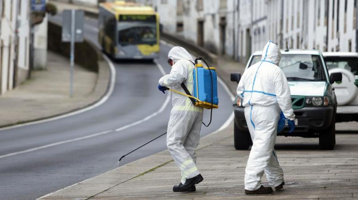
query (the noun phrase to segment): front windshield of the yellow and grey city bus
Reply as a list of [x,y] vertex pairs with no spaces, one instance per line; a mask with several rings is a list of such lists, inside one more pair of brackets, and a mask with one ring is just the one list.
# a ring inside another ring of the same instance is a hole
[[121,15],[117,27],[121,45],[157,43],[155,15]]

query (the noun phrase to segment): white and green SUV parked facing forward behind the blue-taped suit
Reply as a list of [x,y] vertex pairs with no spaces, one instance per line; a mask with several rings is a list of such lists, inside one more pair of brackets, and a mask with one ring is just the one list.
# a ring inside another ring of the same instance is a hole
[[[296,128],[288,128],[277,135],[319,137],[321,149],[333,149],[335,145],[335,114],[337,99],[332,84],[342,81],[341,73],[328,74],[322,53],[318,50],[281,50],[279,67],[285,73],[291,91],[292,107],[296,115]],[[262,52],[255,52],[246,69],[260,62]],[[239,82],[241,74],[231,74],[231,81]],[[252,145],[247,128],[244,107],[234,101],[234,145],[236,149],[248,149]]]

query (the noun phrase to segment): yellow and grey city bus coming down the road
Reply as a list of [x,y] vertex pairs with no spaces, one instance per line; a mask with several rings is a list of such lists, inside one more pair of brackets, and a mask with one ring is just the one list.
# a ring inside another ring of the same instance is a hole
[[114,59],[158,58],[159,14],[150,6],[136,3],[101,3],[98,42]]

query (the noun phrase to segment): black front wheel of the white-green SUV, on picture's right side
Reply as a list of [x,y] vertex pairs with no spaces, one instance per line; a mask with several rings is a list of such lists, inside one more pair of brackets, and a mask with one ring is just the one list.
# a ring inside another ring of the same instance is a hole
[[335,116],[333,117],[331,125],[320,132],[319,147],[321,150],[332,150],[335,145]]

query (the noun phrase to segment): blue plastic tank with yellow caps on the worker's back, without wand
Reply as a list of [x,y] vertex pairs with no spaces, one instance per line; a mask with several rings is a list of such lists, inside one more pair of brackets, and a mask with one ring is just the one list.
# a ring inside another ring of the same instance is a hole
[[[194,97],[198,98],[195,105],[207,109],[218,108],[218,84],[217,74],[213,67],[206,67],[202,64],[201,60],[195,65],[193,70],[194,75]],[[213,98],[211,95],[213,94]],[[213,102],[211,100],[213,99]],[[213,105],[212,105],[213,103]]]

